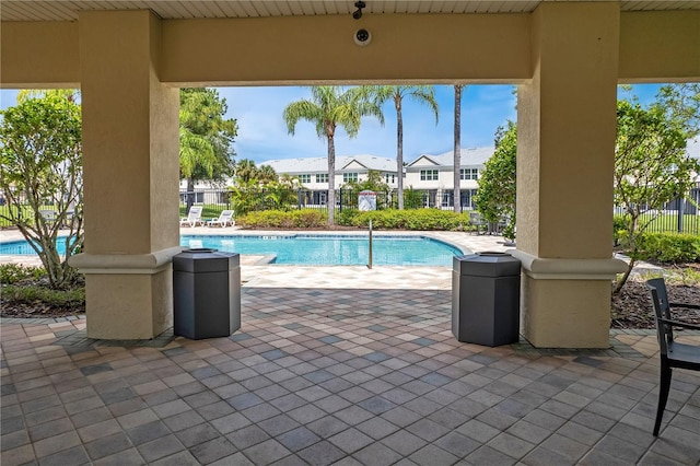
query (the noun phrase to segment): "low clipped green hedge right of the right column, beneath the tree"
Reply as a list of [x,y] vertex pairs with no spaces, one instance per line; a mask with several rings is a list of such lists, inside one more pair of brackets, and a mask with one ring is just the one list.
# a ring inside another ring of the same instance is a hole
[[700,236],[681,233],[644,233],[637,242],[635,258],[667,264],[700,261]]

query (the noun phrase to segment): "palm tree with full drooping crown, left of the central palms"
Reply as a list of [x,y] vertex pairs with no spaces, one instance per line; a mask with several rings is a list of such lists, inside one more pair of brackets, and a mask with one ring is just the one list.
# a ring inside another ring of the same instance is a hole
[[354,138],[360,131],[363,116],[375,116],[384,125],[382,109],[370,101],[368,88],[342,88],[319,85],[311,90],[312,100],[292,102],[284,108],[283,117],[290,135],[300,119],[316,125],[316,133],[328,143],[328,224],[335,224],[336,208],[336,128],[341,126],[348,137]]

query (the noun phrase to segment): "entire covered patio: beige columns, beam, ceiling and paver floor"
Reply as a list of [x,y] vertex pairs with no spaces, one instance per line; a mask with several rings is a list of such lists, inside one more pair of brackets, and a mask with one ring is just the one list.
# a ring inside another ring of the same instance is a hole
[[[82,92],[88,318],[2,322],[2,464],[698,463],[697,375],[653,438],[655,336],[609,330],[617,84],[699,81],[698,3],[254,3],[3,1],[0,85]],[[170,335],[178,89],[397,82],[518,85],[525,339],[456,341],[430,281],[341,280]]]

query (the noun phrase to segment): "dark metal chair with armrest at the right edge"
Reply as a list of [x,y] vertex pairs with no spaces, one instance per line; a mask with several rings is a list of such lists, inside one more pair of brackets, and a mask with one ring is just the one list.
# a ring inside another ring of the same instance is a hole
[[666,292],[666,283],[663,278],[655,278],[646,281],[646,288],[652,296],[654,313],[656,315],[656,337],[661,347],[661,386],[658,388],[658,406],[656,408],[656,421],[654,422],[654,436],[658,435],[668,391],[670,388],[670,377],[673,368],[700,371],[700,346],[685,345],[674,341],[673,327],[700,330],[700,325],[689,324],[674,319],[672,307],[685,307],[700,310],[698,304],[669,303]]

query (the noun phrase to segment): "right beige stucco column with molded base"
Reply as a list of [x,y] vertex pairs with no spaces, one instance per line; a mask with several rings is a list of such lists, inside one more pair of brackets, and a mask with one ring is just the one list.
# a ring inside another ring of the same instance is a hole
[[618,2],[542,2],[518,88],[522,324],[540,348],[609,345]]

